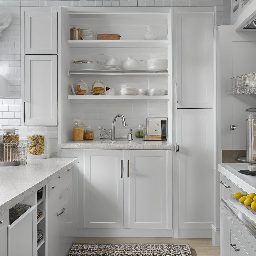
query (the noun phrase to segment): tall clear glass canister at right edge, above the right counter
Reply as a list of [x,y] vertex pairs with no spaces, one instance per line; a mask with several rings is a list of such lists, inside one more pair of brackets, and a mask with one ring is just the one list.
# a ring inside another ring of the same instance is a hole
[[246,160],[256,162],[256,108],[248,108],[246,112]]

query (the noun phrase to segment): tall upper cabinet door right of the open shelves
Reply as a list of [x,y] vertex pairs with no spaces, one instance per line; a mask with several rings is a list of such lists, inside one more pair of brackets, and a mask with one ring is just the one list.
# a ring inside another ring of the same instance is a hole
[[213,13],[177,13],[177,108],[213,107]]

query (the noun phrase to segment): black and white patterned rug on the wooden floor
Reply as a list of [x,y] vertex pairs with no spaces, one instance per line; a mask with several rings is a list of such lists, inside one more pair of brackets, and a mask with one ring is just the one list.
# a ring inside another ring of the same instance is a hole
[[68,256],[192,256],[189,245],[72,244]]

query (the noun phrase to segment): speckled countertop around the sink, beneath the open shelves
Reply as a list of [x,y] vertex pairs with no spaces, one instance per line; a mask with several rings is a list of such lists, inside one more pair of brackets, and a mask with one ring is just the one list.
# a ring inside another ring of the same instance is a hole
[[84,140],[84,141],[66,141],[58,144],[58,148],[65,149],[171,149],[172,144],[169,141],[109,141],[109,140]]

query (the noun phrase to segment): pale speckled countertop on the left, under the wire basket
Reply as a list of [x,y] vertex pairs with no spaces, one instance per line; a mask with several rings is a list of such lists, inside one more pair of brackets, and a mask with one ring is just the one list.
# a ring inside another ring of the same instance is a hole
[[28,159],[20,166],[0,167],[0,215],[77,163],[76,157]]

